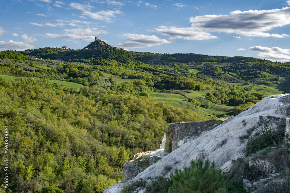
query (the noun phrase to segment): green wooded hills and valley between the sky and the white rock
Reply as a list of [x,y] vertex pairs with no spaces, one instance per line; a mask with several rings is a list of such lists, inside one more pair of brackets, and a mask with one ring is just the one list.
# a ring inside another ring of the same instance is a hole
[[236,115],[286,92],[289,70],[242,56],[127,52],[100,40],[80,50],[0,52],[6,192],[103,192],[133,155],[160,148],[170,123]]

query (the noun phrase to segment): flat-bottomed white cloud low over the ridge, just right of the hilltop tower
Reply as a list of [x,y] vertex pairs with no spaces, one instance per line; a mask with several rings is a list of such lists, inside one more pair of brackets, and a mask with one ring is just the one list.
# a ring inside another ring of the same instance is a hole
[[152,47],[155,45],[170,43],[170,41],[161,39],[157,36],[147,36],[143,34],[124,34],[123,39],[126,39],[124,43],[118,43],[113,46],[123,47],[123,48],[142,48],[142,47]]

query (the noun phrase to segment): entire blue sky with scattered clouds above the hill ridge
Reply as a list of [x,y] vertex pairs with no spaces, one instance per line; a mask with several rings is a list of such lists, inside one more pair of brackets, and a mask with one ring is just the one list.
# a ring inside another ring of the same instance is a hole
[[5,0],[0,50],[81,49],[95,36],[129,51],[290,62],[290,0]]

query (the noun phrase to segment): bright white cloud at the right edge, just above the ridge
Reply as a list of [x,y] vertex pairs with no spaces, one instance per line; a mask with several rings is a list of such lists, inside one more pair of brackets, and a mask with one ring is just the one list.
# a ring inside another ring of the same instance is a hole
[[258,52],[258,56],[263,59],[279,62],[290,62],[290,49],[282,49],[280,47],[250,47],[250,51]]

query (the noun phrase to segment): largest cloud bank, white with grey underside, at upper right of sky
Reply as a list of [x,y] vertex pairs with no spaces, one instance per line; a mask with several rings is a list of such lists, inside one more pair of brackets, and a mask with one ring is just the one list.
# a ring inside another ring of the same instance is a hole
[[[290,1],[290,0],[289,0]],[[228,15],[203,15],[190,18],[191,27],[162,27],[156,32],[168,35],[171,39],[181,37],[184,39],[204,39],[211,36],[211,32],[224,32],[240,38],[240,36],[259,36],[284,38],[287,34],[270,34],[267,31],[275,27],[283,27],[290,24],[290,8],[273,10],[249,10],[233,11]],[[194,38],[202,33],[202,38]],[[216,38],[216,37],[215,37]],[[207,38],[209,39],[209,38]]]

